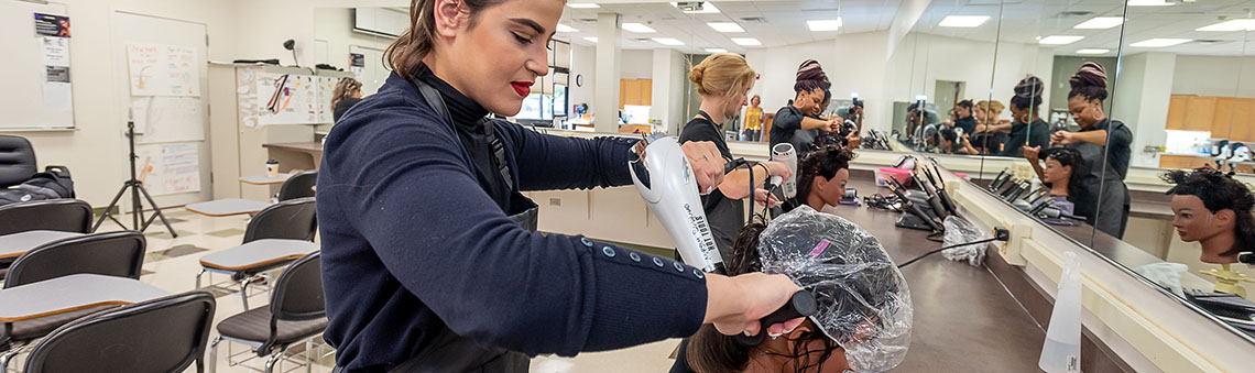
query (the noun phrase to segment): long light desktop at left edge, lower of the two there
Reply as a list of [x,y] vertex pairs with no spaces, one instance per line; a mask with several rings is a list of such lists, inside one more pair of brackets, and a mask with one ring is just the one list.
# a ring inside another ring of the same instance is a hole
[[78,274],[0,290],[0,323],[169,295],[136,279]]

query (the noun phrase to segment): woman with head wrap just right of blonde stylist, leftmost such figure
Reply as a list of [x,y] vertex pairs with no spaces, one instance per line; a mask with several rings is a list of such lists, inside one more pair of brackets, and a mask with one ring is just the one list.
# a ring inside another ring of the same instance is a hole
[[772,148],[779,143],[791,143],[801,156],[811,151],[814,137],[821,131],[840,129],[842,122],[838,119],[823,121],[811,117],[823,109],[823,92],[830,87],[832,83],[828,82],[828,75],[823,74],[818,62],[808,59],[798,67],[797,82],[793,83],[794,97],[788,105],[776,112],[776,119],[772,119]]

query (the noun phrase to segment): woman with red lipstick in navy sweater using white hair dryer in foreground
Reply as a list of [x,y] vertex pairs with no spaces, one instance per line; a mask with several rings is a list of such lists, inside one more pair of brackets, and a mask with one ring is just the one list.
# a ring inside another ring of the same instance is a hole
[[[521,191],[631,185],[639,157],[634,139],[486,118],[518,113],[548,72],[562,4],[414,0],[385,54],[393,74],[331,129],[318,216],[338,372],[527,372],[528,355],[639,345],[703,323],[753,334],[797,291],[786,276],[703,274],[535,231]],[[714,144],[684,148],[697,185],[723,180]]]

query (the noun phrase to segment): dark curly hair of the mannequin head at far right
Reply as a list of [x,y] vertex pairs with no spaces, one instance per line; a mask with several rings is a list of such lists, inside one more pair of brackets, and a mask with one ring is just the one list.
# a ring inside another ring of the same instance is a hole
[[1176,170],[1163,173],[1160,178],[1176,185],[1167,191],[1167,195],[1199,197],[1211,214],[1234,210],[1237,219],[1234,226],[1237,240],[1232,249],[1221,255],[1237,255],[1242,249],[1255,247],[1255,216],[1251,215],[1255,196],[1246,185],[1234,180],[1231,173],[1212,168]]

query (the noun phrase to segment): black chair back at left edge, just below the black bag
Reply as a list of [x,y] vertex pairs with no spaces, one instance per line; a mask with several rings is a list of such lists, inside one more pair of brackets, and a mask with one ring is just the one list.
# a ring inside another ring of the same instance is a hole
[[34,230],[90,234],[92,205],[60,198],[0,206],[0,236]]

